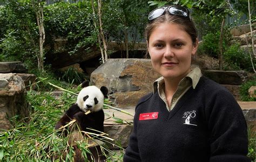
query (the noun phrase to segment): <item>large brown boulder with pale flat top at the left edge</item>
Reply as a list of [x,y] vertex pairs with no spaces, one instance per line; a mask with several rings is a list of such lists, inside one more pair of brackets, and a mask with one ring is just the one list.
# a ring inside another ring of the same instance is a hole
[[15,73],[0,73],[0,129],[11,128],[9,118],[29,115],[25,102],[25,85]]

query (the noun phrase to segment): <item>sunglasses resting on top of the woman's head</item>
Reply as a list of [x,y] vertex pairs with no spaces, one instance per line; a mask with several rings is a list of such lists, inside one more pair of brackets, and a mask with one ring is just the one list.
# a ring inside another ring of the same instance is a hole
[[154,9],[153,11],[150,12],[149,17],[147,18],[149,18],[149,20],[152,21],[153,19],[163,15],[166,9],[168,9],[171,15],[188,17],[190,18],[190,21],[191,21],[190,12],[187,10],[187,8],[184,8],[183,6],[179,6],[179,5],[173,5],[169,7],[160,7],[160,8]]

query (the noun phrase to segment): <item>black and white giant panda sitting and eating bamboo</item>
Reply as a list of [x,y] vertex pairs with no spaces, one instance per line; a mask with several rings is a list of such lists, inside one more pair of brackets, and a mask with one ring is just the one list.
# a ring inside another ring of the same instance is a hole
[[[82,83],[82,88],[83,89],[78,94],[76,103],[65,112],[55,126],[55,129],[60,129],[60,131],[64,132],[65,136],[68,134],[68,131],[61,130],[62,126],[69,124],[69,122],[71,122],[73,119],[77,121],[80,131],[97,134],[99,134],[97,131],[104,132],[103,103],[104,98],[107,98],[107,87],[102,86],[100,89],[98,89],[96,86],[89,86],[89,82],[85,81]],[[91,112],[89,114],[85,114],[85,112],[88,110]],[[72,129],[69,128],[69,130]],[[75,156],[73,157],[75,161],[85,161],[85,159],[82,157],[81,151],[74,144],[74,141],[80,140],[81,136],[84,136],[84,134],[81,134],[80,131],[78,132],[78,130],[72,130],[69,139],[69,145],[72,145],[73,150],[75,151]],[[87,161],[105,160],[105,156],[103,156],[99,145],[89,147],[89,150],[91,151],[91,154],[87,155]],[[58,158],[64,159],[65,153]]]

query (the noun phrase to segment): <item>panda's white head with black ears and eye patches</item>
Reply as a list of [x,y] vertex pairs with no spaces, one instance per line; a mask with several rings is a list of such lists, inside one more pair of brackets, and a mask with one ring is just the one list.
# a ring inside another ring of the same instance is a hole
[[82,83],[82,88],[76,102],[79,108],[83,112],[87,110],[92,112],[102,110],[104,98],[107,98],[107,88],[102,86],[98,89],[96,86],[89,86],[88,81]]

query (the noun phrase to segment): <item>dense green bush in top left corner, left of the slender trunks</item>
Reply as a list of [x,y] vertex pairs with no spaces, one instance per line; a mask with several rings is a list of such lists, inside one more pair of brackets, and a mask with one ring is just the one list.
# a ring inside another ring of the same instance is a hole
[[0,23],[5,25],[0,27],[0,52],[4,61],[19,60],[34,68],[39,34],[33,2],[9,0],[1,6]]

